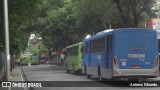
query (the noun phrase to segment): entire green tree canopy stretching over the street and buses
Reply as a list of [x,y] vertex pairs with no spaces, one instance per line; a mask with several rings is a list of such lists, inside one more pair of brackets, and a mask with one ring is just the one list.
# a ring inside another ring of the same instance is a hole
[[[30,33],[41,35],[49,50],[59,50],[110,27],[144,27],[158,7],[156,0],[9,0],[11,51],[24,51]],[[3,14],[0,21],[2,51]]]

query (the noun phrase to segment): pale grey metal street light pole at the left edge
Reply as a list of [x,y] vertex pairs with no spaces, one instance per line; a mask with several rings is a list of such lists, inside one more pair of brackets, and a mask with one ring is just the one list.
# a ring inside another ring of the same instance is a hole
[[5,50],[6,50],[6,79],[10,81],[10,49],[9,49],[9,22],[8,22],[8,0],[3,0],[4,6],[4,28],[5,28]]

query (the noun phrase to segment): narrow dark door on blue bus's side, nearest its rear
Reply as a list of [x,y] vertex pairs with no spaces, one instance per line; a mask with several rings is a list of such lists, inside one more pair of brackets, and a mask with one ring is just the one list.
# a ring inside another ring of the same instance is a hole
[[111,68],[112,67],[112,35],[107,36],[107,68]]

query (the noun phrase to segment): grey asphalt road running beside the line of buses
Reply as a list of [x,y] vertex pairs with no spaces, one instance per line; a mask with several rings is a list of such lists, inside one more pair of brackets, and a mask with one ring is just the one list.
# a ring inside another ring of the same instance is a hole
[[27,81],[38,81],[47,86],[31,90],[160,90],[160,86],[129,87],[125,82],[99,82],[97,77],[88,79],[84,75],[68,74],[63,67],[52,65],[23,66],[22,71]]

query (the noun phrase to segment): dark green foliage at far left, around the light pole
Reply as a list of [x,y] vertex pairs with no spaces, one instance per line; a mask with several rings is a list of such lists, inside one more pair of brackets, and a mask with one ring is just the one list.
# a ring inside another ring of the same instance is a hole
[[[36,5],[40,0],[8,0],[9,8],[9,38],[11,53],[19,54],[25,51],[30,32],[22,31],[24,26],[31,25],[36,17]],[[4,51],[3,0],[0,1],[0,50]]]

